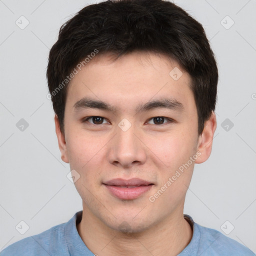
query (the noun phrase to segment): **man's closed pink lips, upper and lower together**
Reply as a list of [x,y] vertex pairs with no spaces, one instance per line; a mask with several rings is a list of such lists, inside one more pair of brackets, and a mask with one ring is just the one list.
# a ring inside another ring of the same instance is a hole
[[153,183],[140,178],[131,178],[128,180],[114,178],[103,182],[103,185],[113,196],[119,199],[130,200],[150,190]]

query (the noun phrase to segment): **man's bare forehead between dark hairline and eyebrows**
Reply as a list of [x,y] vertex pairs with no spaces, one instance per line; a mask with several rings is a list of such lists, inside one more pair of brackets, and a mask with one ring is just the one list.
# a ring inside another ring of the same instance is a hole
[[184,105],[193,99],[189,74],[171,58],[152,52],[114,57],[99,54],[78,70],[67,87],[69,107],[84,96],[119,104],[124,109],[166,96],[184,101]]

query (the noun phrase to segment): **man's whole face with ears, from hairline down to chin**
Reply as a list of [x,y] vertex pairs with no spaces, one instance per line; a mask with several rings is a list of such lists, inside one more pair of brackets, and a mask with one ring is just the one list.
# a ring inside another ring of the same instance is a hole
[[64,135],[55,117],[56,132],[90,219],[139,232],[183,214],[215,127],[213,118],[198,135],[190,76],[181,71],[161,54],[133,52],[115,61],[98,55],[72,78]]

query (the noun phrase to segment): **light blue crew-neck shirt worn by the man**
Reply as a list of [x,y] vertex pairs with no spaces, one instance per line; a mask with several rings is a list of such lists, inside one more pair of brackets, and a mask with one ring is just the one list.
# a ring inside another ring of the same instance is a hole
[[[66,223],[14,242],[3,249],[0,256],[93,256],[76,229],[81,213],[76,212]],[[193,235],[177,256],[255,256],[247,247],[219,231],[195,223],[189,215],[184,217],[193,227]]]

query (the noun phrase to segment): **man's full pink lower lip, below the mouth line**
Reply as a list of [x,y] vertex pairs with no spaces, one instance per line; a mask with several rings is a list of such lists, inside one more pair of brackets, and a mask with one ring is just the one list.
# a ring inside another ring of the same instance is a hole
[[145,193],[146,191],[150,190],[152,185],[141,185],[136,187],[119,187],[114,185],[106,185],[104,184],[107,189],[110,191],[112,195],[119,199],[135,199],[139,197],[141,194]]

